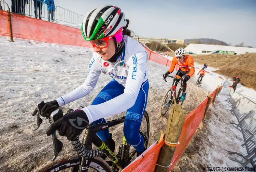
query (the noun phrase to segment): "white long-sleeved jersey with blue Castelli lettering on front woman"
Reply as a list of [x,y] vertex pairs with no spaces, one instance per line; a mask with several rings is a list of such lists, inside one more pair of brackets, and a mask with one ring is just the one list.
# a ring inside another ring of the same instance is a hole
[[104,61],[98,53],[93,53],[90,60],[88,75],[83,85],[57,99],[63,106],[90,93],[96,86],[100,73],[109,74],[117,82],[124,85],[124,93],[98,105],[90,105],[82,110],[88,116],[89,122],[119,114],[132,107],[137,99],[141,85],[148,79],[146,63],[148,55],[139,42],[129,36],[124,36],[125,53],[116,63]]

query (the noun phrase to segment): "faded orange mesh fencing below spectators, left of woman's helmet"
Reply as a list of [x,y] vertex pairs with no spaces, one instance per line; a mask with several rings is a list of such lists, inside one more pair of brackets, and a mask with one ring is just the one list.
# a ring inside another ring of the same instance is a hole
[[92,48],[90,42],[84,40],[81,29],[13,13],[11,20],[13,37]]

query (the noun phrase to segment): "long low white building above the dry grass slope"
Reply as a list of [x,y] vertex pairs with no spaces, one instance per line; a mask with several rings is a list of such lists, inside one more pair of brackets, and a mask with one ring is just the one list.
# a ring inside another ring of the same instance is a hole
[[186,50],[186,53],[190,53],[190,54],[213,54],[213,53],[245,54],[245,53],[256,53],[256,48],[219,46],[219,45],[207,45],[207,44],[189,44],[185,48],[185,50]]

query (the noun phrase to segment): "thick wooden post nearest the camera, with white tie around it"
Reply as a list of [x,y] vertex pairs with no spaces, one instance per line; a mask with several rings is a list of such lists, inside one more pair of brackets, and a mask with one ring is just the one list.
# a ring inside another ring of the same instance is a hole
[[[181,105],[173,104],[171,106],[170,116],[165,131],[165,141],[170,143],[179,142],[185,117],[186,111],[181,108]],[[168,171],[175,149],[176,147],[171,147],[167,144],[163,145],[157,160],[157,164],[160,166],[156,165],[155,172]]]

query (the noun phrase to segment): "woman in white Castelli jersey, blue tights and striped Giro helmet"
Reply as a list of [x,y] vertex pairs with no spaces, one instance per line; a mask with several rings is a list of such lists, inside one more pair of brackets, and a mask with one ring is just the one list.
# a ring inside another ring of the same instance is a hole
[[[63,106],[90,93],[96,86],[100,74],[113,78],[98,94],[90,106],[69,113],[47,130],[51,135],[59,130],[59,135],[68,140],[79,135],[89,123],[106,122],[104,118],[126,111],[124,136],[127,142],[141,154],[144,139],[139,133],[148,94],[148,55],[140,43],[131,38],[127,29],[129,20],[117,6],[105,5],[91,10],[84,17],[82,34],[93,45],[93,57],[89,61],[88,74],[84,84],[54,101],[47,102],[41,110],[45,116],[50,108]],[[84,64],[81,64],[81,68]],[[32,115],[35,115],[37,110]],[[109,129],[97,135],[114,152],[115,142]],[[106,158],[104,156],[103,158]]]

